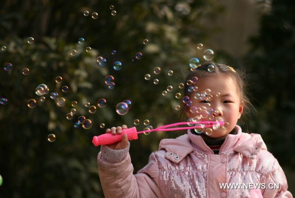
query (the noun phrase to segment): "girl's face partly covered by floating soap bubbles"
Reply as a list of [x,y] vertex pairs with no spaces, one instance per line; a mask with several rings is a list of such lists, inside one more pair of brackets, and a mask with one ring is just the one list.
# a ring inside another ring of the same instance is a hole
[[[213,116],[222,117],[224,122],[228,122],[228,128],[220,127],[218,130],[213,130],[210,137],[219,138],[228,135],[236,126],[237,120],[240,118],[243,111],[243,103],[237,92],[236,81],[231,76],[226,75],[212,75],[199,79],[196,84],[198,87],[198,93],[205,91],[206,89],[211,90],[213,96],[210,101],[194,99],[194,93],[190,96],[192,100],[191,106],[201,107],[205,103],[210,103],[211,108],[215,111]],[[217,93],[220,96],[216,96]],[[200,113],[192,113],[190,107],[185,108],[185,113],[188,118],[194,118],[200,115]],[[218,111],[216,113],[216,111]],[[202,118],[201,121],[209,121],[207,118]],[[215,121],[215,119],[214,119]],[[205,133],[205,132],[204,132]]]

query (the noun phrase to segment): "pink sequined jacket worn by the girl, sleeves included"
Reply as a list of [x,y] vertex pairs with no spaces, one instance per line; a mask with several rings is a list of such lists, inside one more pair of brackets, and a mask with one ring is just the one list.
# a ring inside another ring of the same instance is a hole
[[[148,165],[135,175],[128,152],[115,164],[99,153],[98,171],[105,197],[293,198],[281,166],[266,150],[261,136],[241,132],[239,126],[236,129],[236,135],[226,137],[219,155],[190,131],[176,139],[163,139]],[[222,183],[249,186],[222,189]],[[250,190],[254,184],[262,186]],[[276,184],[279,188],[273,188]]]

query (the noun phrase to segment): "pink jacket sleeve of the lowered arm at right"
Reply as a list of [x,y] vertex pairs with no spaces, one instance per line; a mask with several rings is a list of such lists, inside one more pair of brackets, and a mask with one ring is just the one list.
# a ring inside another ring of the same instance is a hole
[[264,198],[293,198],[288,191],[285,173],[277,160],[275,160],[272,170],[268,173],[265,183]]

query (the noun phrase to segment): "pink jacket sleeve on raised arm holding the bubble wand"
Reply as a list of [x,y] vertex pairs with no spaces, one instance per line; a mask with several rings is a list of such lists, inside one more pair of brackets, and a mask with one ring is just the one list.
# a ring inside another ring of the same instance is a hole
[[[113,152],[116,155],[116,150]],[[148,165],[136,175],[133,175],[128,152],[118,163],[104,160],[102,154],[98,154],[97,164],[105,198],[161,198],[157,183],[158,163],[154,154],[150,155]]]

